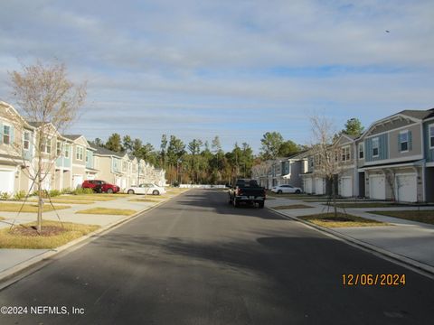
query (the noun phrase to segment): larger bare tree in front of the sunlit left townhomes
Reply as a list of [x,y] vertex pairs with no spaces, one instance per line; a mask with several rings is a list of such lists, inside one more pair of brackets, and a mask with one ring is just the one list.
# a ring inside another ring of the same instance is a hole
[[[11,87],[21,115],[34,127],[29,140],[34,147],[33,163],[25,171],[38,190],[37,231],[41,233],[43,181],[61,155],[62,142],[57,141],[58,136],[77,119],[84,104],[86,82],[74,85],[67,78],[66,66],[59,62],[43,64],[38,60],[33,65],[23,64],[22,69],[10,72]],[[21,125],[25,128],[29,124]],[[24,157],[24,148],[20,148],[24,144],[17,145],[16,151]]]

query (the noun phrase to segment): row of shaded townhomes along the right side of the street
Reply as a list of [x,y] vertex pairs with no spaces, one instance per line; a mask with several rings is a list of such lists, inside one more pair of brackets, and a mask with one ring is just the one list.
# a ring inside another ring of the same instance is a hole
[[[337,192],[342,197],[402,202],[434,202],[434,108],[403,110],[370,125],[362,135],[340,135],[330,151],[338,153]],[[261,186],[301,187],[311,194],[331,193],[312,151],[256,165]]]

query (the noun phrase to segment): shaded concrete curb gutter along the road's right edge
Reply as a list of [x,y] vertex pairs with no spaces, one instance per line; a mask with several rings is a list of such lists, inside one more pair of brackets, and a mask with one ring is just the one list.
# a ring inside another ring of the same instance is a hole
[[321,226],[315,225],[313,223],[307,222],[303,219],[300,219],[300,218],[297,218],[297,217],[294,217],[294,216],[291,216],[288,214],[284,214],[284,213],[282,213],[276,209],[272,209],[272,208],[267,208],[267,209],[277,213],[278,215],[280,215],[284,218],[293,219],[295,221],[303,223],[304,225],[306,225],[309,228],[315,228],[318,231],[325,232],[329,236],[337,237],[338,239],[341,239],[344,242],[348,242],[348,243],[352,244],[353,246],[358,246],[359,248],[362,247],[363,249],[365,249],[369,252],[374,252],[374,253],[378,253],[379,255],[386,256],[394,262],[399,262],[403,266],[410,266],[411,268],[415,268],[416,270],[421,271],[422,274],[429,276],[430,278],[434,278],[434,267],[433,266],[420,263],[416,260],[413,260],[413,259],[406,257],[406,256],[403,256],[403,255],[389,252],[388,250],[385,250],[385,249],[382,249],[380,247],[365,243],[362,240],[355,239],[354,237],[349,237],[347,235],[339,233],[339,232],[332,230],[330,228],[321,227]]

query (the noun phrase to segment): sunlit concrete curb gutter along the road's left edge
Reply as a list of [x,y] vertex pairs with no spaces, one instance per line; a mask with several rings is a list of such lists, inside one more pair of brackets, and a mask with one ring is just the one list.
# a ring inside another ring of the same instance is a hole
[[[90,238],[96,239],[100,235],[103,235],[104,233],[109,232],[109,231],[113,230],[114,228],[118,228],[118,227],[122,226],[124,223],[127,223],[128,221],[131,221],[131,220],[138,218],[143,213],[148,212],[148,211],[153,210],[153,209],[156,209],[160,205],[164,204],[165,202],[167,202],[169,200],[174,199],[175,197],[177,197],[180,194],[185,193],[186,191],[187,190],[185,190],[181,193],[178,193],[171,198],[161,200],[160,202],[157,202],[155,205],[153,205],[151,207],[148,207],[146,209],[141,209],[138,212],[136,212],[135,214],[132,214],[130,216],[126,216],[125,218],[121,218],[118,221],[112,222],[107,226],[103,226],[103,227],[89,233],[88,235],[74,239],[71,242],[69,242],[63,246],[59,246],[57,248],[50,249],[47,252],[44,252],[40,255],[33,256],[32,258],[1,272],[0,273],[0,290],[3,290],[3,289],[5,289],[5,287],[19,281],[20,279],[24,278],[28,274],[31,274],[31,273],[39,270],[44,265],[42,262],[49,260],[52,256],[59,255],[62,252],[66,251],[67,249],[70,249],[73,246],[76,246],[76,247],[73,247],[73,250],[78,249],[78,248],[80,248],[80,246],[86,245],[87,243],[84,243],[84,242],[87,241],[88,239],[90,239]],[[82,244],[82,245],[80,245],[80,244]],[[39,263],[41,263],[40,267],[34,267]],[[22,276],[15,278],[16,275],[19,273],[22,273],[21,274]]]

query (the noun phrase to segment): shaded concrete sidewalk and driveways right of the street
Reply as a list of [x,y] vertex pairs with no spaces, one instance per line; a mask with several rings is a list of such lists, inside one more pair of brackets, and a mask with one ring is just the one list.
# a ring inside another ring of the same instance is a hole
[[[278,209],[274,211],[288,216],[297,218],[317,213],[325,213],[327,207],[322,202],[306,202],[303,200],[294,200],[288,198],[273,198],[268,200],[266,206],[269,209],[273,207],[303,204],[312,208],[307,209]],[[392,226],[379,227],[352,227],[352,228],[323,228],[312,225],[306,221],[300,220],[314,228],[321,229],[337,237],[344,238],[356,245],[364,246],[370,250],[388,255],[405,264],[410,264],[431,274],[434,274],[434,225],[410,221],[401,218],[385,217],[370,213],[369,211],[387,211],[397,209],[417,209],[417,208],[346,208],[348,214],[370,218],[382,222],[387,222]],[[424,208],[427,209],[427,208]],[[429,208],[428,208],[429,209]],[[433,209],[432,207],[430,209]],[[332,212],[332,208],[330,212]],[[344,211],[343,209],[338,209]]]

